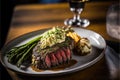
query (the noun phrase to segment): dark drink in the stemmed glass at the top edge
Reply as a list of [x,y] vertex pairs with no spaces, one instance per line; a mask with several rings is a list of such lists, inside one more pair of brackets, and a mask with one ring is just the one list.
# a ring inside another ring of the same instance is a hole
[[85,0],[69,0],[70,8],[84,8]]

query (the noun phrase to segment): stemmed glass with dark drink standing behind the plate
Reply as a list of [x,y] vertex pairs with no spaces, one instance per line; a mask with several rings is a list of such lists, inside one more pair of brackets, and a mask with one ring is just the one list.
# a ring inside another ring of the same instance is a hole
[[90,22],[88,19],[80,18],[84,9],[85,2],[88,0],[69,0],[70,11],[74,13],[73,18],[66,19],[64,24],[67,26],[87,27]]

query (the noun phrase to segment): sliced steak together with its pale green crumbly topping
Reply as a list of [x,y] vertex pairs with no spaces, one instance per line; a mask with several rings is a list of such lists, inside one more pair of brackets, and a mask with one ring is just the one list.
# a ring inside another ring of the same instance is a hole
[[[71,60],[74,40],[71,37],[66,36],[62,30],[57,29],[57,32],[58,33],[56,33],[56,30],[49,32],[52,34],[49,34],[47,38],[45,38],[45,34],[47,34],[45,33],[43,39],[41,39],[34,47],[32,54],[32,65],[35,68],[49,69],[61,64],[66,64]],[[48,44],[46,44],[47,42]]]

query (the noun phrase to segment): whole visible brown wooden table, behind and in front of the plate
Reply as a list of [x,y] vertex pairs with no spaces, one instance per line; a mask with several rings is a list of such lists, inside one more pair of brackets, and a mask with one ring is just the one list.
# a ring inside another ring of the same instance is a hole
[[[108,7],[114,2],[88,2],[81,17],[90,20],[90,25],[86,28],[102,35],[106,40],[118,41],[111,38],[106,32],[106,12]],[[20,5],[14,9],[11,27],[8,32],[7,42],[28,32],[50,28],[53,26],[64,26],[64,20],[72,17],[67,3],[62,4],[33,4]],[[22,76],[8,70],[14,80],[109,80],[110,73],[105,57],[93,66],[56,77],[32,77]]]

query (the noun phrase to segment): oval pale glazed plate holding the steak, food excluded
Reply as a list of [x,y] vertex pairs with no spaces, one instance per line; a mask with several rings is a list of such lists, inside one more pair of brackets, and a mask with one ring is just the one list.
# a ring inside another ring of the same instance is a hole
[[27,70],[21,70],[20,68],[16,67],[15,65],[8,63],[7,57],[5,55],[6,51],[9,51],[12,47],[20,46],[20,45],[26,43],[27,41],[29,41],[35,37],[38,37],[40,34],[42,34],[43,32],[45,32],[48,29],[38,30],[38,31],[24,34],[14,40],[12,40],[8,44],[6,44],[1,50],[1,62],[8,69],[11,69],[11,70],[21,73],[21,74],[27,74],[27,75],[31,75],[31,76],[55,76],[55,75],[73,73],[73,72],[88,68],[91,65],[95,64],[96,62],[98,62],[103,57],[104,50],[106,48],[105,40],[101,35],[99,35],[96,32],[86,30],[86,29],[81,29],[81,28],[73,28],[73,29],[81,37],[87,37],[90,40],[90,43],[92,45],[92,51],[90,54],[85,55],[85,56],[79,56],[79,55],[75,55],[73,53],[72,59],[76,60],[77,62],[72,66],[66,67],[62,70],[56,70],[56,71],[45,70],[45,71],[41,71],[41,72],[36,72],[36,71],[32,70],[31,67],[28,67]]

